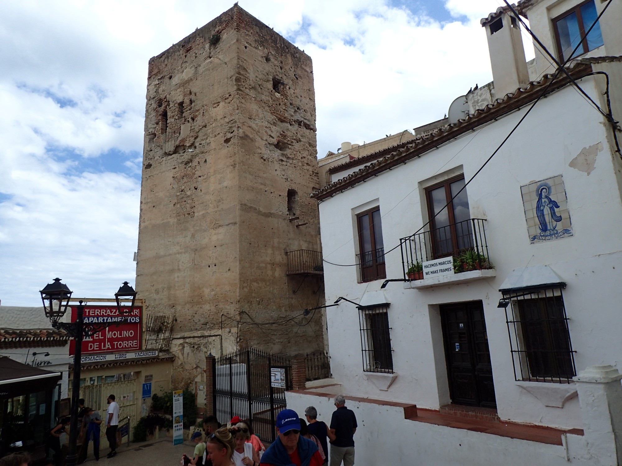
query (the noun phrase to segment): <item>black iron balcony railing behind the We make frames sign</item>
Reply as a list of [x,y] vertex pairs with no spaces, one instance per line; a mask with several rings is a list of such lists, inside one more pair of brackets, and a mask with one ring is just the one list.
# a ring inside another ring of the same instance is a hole
[[485,222],[468,219],[400,239],[404,278],[409,269],[420,272],[422,263],[442,257],[454,258],[455,272],[491,268]]

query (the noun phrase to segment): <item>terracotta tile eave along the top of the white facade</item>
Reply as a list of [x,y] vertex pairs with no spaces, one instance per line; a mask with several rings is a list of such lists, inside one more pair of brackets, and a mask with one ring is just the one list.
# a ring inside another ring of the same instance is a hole
[[[574,60],[569,66],[567,66],[567,70],[573,79],[578,79],[588,75],[592,71],[592,63],[603,62],[622,62],[622,57],[595,57]],[[476,110],[475,114],[470,115],[465,119],[460,119],[457,123],[440,127],[438,130],[431,132],[428,135],[416,137],[406,143],[399,144],[399,147],[384,149],[382,152],[388,150],[392,150],[392,152],[382,158],[379,158],[379,160],[375,160],[374,162],[365,165],[363,168],[350,173],[350,175],[334,181],[333,183],[330,183],[330,185],[324,186],[320,190],[313,191],[310,197],[322,200],[333,196],[333,194],[337,194],[346,188],[350,188],[351,186],[361,183],[371,176],[378,175],[378,173],[389,170],[392,167],[396,167],[400,163],[407,162],[412,158],[420,157],[420,155],[423,155],[430,149],[438,147],[440,144],[444,144],[445,142],[458,137],[458,135],[461,135],[468,130],[473,130],[488,121],[492,121],[493,119],[501,117],[514,109],[518,109],[528,103],[531,103],[539,96],[537,91],[544,90],[553,78],[553,74],[544,75],[542,80],[531,81],[531,83],[529,83],[526,87],[516,89],[514,93],[508,93],[503,98],[496,99],[493,103]],[[560,89],[567,86],[569,83],[570,80],[567,76],[558,76],[555,79],[555,82],[550,86],[548,92],[550,93],[556,89]],[[365,157],[374,159],[379,157],[378,153],[375,157],[370,157],[371,155],[374,154],[370,154]],[[348,165],[348,163],[342,164],[343,167],[346,167],[346,165]]]

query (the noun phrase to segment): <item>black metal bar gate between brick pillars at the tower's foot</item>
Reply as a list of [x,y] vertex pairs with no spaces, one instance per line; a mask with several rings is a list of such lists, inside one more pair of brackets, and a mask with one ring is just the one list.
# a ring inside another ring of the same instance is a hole
[[[271,372],[272,370],[272,372]],[[215,360],[214,411],[221,423],[233,416],[253,421],[253,431],[263,441],[274,442],[276,415],[285,409],[285,390],[292,389],[292,366],[286,357],[258,349],[238,350]],[[271,383],[271,373],[284,374],[282,383]]]

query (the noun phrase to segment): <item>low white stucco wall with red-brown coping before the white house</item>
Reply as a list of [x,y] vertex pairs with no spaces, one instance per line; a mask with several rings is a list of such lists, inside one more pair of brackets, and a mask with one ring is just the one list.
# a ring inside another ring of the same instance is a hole
[[[335,406],[331,398],[287,392],[287,408],[299,415],[315,406],[318,420],[330,424]],[[568,435],[568,447],[500,437],[465,429],[436,426],[404,419],[404,410],[393,406],[346,401],[356,416],[355,464],[372,465],[547,465],[582,462],[585,441]],[[328,447],[330,449],[330,446]],[[577,460],[575,462],[575,460]]]

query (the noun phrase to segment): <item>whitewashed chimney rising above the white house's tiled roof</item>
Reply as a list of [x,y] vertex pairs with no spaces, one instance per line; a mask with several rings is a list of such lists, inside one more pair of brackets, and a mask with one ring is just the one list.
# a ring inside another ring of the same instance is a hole
[[[515,5],[512,7],[516,10]],[[503,99],[506,94],[514,93],[529,83],[521,25],[508,7],[499,7],[480,22],[486,28],[488,38],[494,94],[498,99]]]

